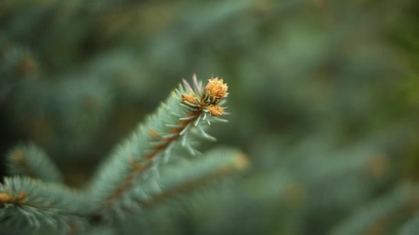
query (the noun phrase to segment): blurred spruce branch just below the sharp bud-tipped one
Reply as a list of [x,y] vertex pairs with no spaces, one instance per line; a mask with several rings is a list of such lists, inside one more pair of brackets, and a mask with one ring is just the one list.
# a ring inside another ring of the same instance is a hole
[[[156,181],[137,186],[138,190],[143,190],[143,195],[149,196],[136,199],[135,202],[144,208],[151,208],[157,203],[187,194],[233,172],[245,170],[248,165],[247,157],[240,151],[216,148],[198,159],[163,166],[162,174]],[[152,184],[159,187],[153,187]]]

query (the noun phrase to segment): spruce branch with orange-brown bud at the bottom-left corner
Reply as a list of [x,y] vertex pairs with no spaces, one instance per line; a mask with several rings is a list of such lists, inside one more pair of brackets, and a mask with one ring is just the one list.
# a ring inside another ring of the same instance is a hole
[[27,177],[6,177],[0,184],[0,221],[11,227],[81,230],[92,210],[87,197],[58,184]]

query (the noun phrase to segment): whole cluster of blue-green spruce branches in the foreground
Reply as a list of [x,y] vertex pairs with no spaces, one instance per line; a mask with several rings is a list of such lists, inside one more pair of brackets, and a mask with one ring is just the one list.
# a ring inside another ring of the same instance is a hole
[[[221,105],[228,95],[223,79],[203,85],[194,76],[193,82],[191,86],[183,80],[184,85],[115,148],[85,190],[63,186],[59,171],[37,146],[11,150],[10,174],[20,177],[1,184],[0,221],[26,234],[117,232],[133,214],[246,168],[246,157],[227,148],[185,158],[198,153],[198,137],[214,140],[205,128],[225,121],[219,116],[225,114]],[[172,164],[163,166],[169,161]]]

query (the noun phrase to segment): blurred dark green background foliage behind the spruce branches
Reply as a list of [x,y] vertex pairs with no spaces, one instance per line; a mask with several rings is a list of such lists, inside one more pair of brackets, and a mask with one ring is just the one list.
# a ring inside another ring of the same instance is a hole
[[0,1],[0,153],[33,142],[81,187],[181,78],[218,76],[231,115],[202,149],[240,148],[252,167],[148,232],[413,231],[418,10],[413,0]]

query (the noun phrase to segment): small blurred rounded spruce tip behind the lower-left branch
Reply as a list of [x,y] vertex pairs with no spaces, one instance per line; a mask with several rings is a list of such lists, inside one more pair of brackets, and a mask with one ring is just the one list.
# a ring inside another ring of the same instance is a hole
[[34,144],[14,147],[7,155],[9,175],[21,175],[62,183],[63,177],[50,158]]

